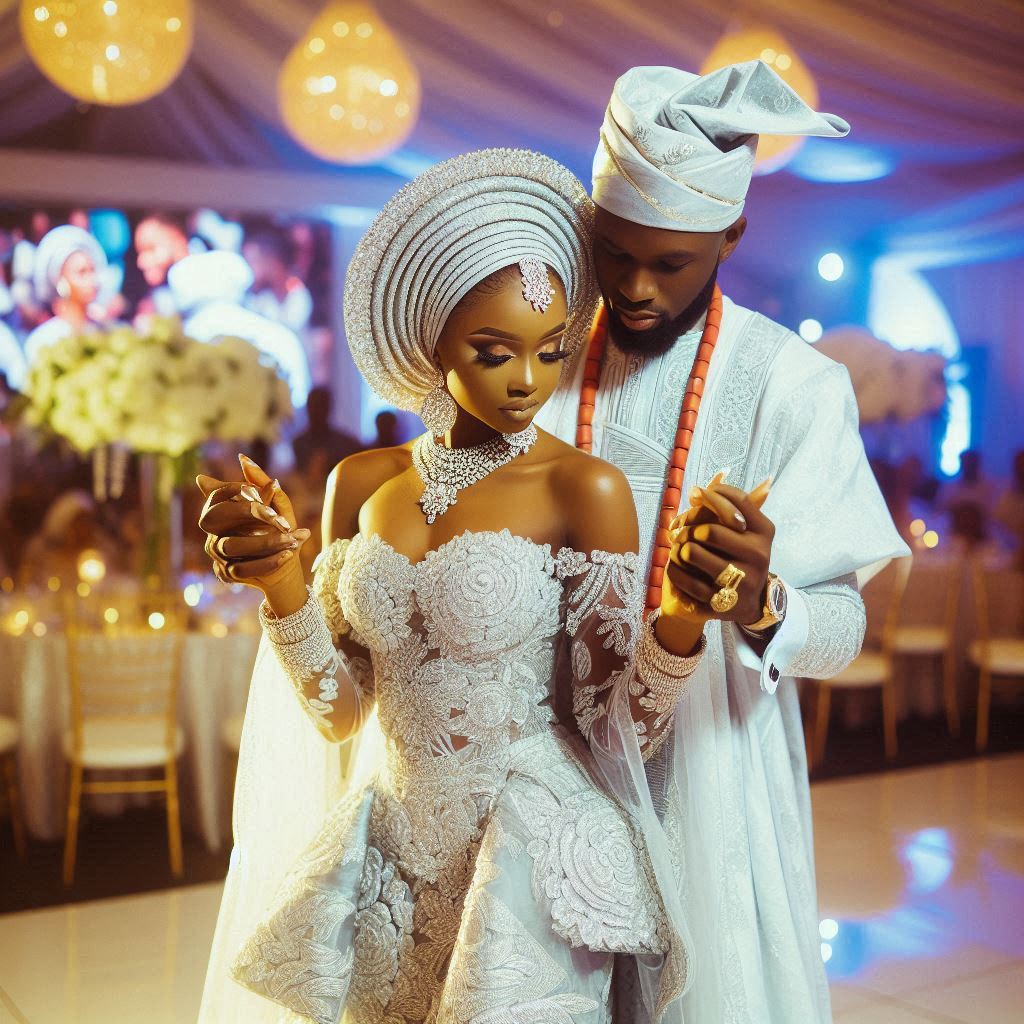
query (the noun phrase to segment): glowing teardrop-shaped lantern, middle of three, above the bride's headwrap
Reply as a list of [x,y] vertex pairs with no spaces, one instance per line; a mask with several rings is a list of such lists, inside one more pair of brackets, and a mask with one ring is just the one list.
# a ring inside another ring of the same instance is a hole
[[332,3],[285,60],[278,100],[289,131],[311,153],[368,164],[413,130],[420,77],[372,6]]

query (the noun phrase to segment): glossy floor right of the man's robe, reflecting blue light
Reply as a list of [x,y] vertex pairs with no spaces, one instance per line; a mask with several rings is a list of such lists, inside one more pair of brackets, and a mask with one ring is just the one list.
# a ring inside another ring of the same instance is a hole
[[1020,756],[815,787],[837,1020],[1024,1019],[1022,792]]

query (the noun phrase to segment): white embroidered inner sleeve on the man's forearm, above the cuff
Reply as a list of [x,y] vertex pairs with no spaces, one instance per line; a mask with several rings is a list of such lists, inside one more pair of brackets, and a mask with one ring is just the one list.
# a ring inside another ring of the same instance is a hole
[[859,653],[867,625],[856,573],[803,587],[807,604],[807,642],[786,669],[786,675],[829,679]]

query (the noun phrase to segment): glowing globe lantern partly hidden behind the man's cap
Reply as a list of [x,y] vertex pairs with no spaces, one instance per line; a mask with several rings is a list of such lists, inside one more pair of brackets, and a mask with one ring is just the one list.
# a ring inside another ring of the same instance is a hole
[[[774,29],[752,28],[723,36],[708,54],[700,74],[744,60],[764,60],[813,110],[818,104],[818,87],[807,65]],[[784,167],[804,144],[802,136],[762,135],[754,161],[755,174],[771,174]]]

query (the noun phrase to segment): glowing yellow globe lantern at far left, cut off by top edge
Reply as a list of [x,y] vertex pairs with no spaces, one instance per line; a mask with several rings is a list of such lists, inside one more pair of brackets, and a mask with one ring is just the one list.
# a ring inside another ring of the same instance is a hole
[[191,49],[190,0],[22,0],[39,70],[76,99],[139,103],[177,78]]

